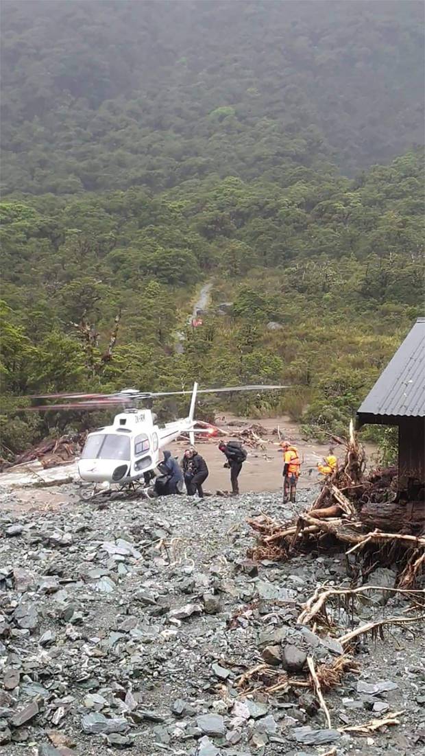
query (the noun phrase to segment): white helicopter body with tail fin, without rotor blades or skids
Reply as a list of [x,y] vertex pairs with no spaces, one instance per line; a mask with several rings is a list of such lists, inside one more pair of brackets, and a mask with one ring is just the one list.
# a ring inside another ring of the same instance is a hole
[[127,410],[111,426],[89,433],[78,461],[85,482],[122,485],[143,477],[159,464],[163,447],[188,432],[193,443],[193,413],[197,384],[193,387],[189,416],[158,426],[150,410]]

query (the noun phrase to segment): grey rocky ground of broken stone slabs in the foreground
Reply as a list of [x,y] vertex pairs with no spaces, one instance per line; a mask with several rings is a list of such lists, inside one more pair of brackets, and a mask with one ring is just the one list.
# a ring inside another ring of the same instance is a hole
[[[42,509],[20,511],[19,491],[0,502],[0,745],[10,756],[425,753],[418,624],[362,641],[359,674],[326,695],[331,730],[305,688],[239,689],[264,658],[297,674],[307,653],[320,663],[341,650],[296,624],[317,584],[350,584],[341,553],[247,562],[245,519],[293,516],[279,494],[90,507],[72,486],[51,492]],[[297,507],[315,496],[300,491]],[[404,601],[380,600],[335,618],[350,628],[405,616]],[[394,727],[340,732],[401,710]]]

